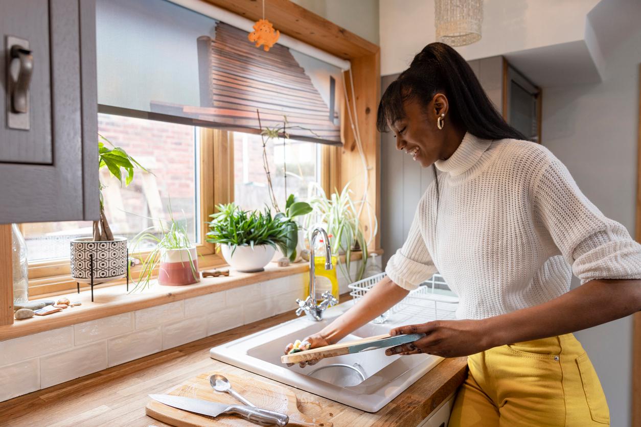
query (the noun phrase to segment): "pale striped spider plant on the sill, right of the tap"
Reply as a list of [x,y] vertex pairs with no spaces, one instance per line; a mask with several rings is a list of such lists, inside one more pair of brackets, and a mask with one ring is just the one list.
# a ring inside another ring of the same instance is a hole
[[[326,197],[325,192],[318,184],[312,183],[311,189],[315,190],[315,195],[309,198],[313,215],[308,217],[308,222],[315,219],[318,223],[326,225],[326,231],[328,235],[331,235],[329,243],[332,254],[345,254],[344,263],[340,262],[340,257],[337,257],[339,260],[338,267],[351,282],[361,280],[368,260],[367,239],[358,216],[356,203],[351,198],[352,191],[349,189],[349,182],[340,193],[335,191],[329,198]],[[312,218],[313,216],[315,218]],[[374,234],[376,234],[377,230],[378,223],[374,218]],[[360,268],[356,272],[356,277],[353,278],[349,267],[351,265],[351,254],[356,250],[361,250],[363,257]]]

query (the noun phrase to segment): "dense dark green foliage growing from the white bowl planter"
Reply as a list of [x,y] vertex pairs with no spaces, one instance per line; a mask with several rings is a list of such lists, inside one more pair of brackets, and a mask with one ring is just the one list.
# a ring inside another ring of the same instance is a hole
[[210,215],[208,242],[229,245],[232,254],[238,246],[258,245],[270,245],[287,253],[292,226],[284,214],[272,216],[268,207],[264,211],[244,211],[234,203],[218,205],[217,209]]

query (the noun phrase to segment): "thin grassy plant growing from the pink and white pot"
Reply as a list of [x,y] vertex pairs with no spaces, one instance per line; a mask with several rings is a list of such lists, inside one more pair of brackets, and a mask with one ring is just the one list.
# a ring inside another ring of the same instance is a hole
[[[131,292],[142,291],[149,287],[154,270],[160,263],[162,255],[166,251],[172,249],[188,249],[194,246],[189,240],[185,221],[178,221],[174,218],[174,214],[171,209],[171,202],[167,205],[167,209],[169,210],[169,220],[162,218],[149,218],[160,223],[160,236],[156,236],[156,234],[151,232],[151,230],[156,229],[156,226],[152,226],[142,230],[131,240],[131,246],[133,248],[132,252],[138,251],[138,254],[141,252],[141,243],[145,241],[151,241],[154,243],[154,248],[149,252],[149,254],[147,254],[140,266],[140,277],[138,277],[138,282],[136,282],[136,286],[131,290]],[[167,227],[165,227],[163,223],[166,223]],[[194,260],[192,259],[190,252],[187,251],[188,260],[183,260],[182,256],[183,255],[181,253],[181,262],[189,261],[194,278],[198,278],[198,272],[196,271]]]

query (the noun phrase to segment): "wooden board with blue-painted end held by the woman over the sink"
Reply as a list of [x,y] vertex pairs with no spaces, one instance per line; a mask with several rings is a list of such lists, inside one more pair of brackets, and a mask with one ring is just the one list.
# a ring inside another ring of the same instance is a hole
[[326,357],[336,357],[351,353],[360,353],[361,351],[376,350],[378,348],[399,346],[416,341],[424,336],[425,334],[395,335],[394,337],[391,337],[389,334],[376,335],[374,337],[338,342],[338,344],[331,344],[331,346],[312,348],[312,350],[284,355],[281,356],[281,362],[299,363],[306,362],[307,360],[325,359]]

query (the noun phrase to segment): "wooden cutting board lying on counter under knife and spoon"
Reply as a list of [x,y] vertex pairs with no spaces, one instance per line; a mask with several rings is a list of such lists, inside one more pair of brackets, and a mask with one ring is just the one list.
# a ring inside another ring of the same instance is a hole
[[[203,373],[196,378],[191,378],[186,382],[177,385],[166,394],[174,396],[185,396],[186,398],[210,400],[217,403],[229,403],[242,405],[233,396],[228,393],[217,392],[209,384],[210,375],[219,373],[227,377],[231,382],[232,388],[239,392],[244,398],[259,408],[265,408],[276,412],[281,412],[289,416],[290,426],[305,427],[332,427],[332,423],[312,419],[298,410],[297,399],[294,392],[276,384],[268,384],[253,379],[244,379],[235,375],[224,372],[212,371]],[[215,418],[206,415],[193,414],[178,408],[172,408],[163,405],[154,399],[149,398],[145,407],[145,412],[150,417],[170,424],[176,427],[211,427],[217,426],[252,426],[258,424],[251,423],[237,415],[221,414]]]

